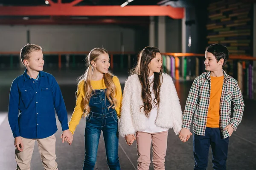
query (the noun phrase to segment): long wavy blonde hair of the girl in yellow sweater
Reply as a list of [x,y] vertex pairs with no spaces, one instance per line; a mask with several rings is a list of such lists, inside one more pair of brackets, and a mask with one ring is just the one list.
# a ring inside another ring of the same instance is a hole
[[[90,113],[90,106],[89,106],[89,101],[90,97],[92,96],[93,87],[90,83],[92,79],[92,74],[93,74],[93,66],[91,65],[91,62],[94,61],[96,62],[98,60],[99,55],[101,54],[108,54],[108,51],[105,48],[93,48],[90,53],[86,57],[86,65],[87,69],[84,72],[84,74],[79,77],[78,79],[78,85],[80,83],[84,83],[84,99],[82,100],[82,104],[84,106],[84,117],[87,116]],[[117,100],[115,98],[116,96],[116,85],[113,82],[113,74],[108,71],[107,74],[103,75],[103,80],[105,83],[107,90],[106,97],[108,101],[111,103],[111,105],[108,107],[109,108],[115,108],[117,104]],[[77,93],[77,92],[76,92]]]

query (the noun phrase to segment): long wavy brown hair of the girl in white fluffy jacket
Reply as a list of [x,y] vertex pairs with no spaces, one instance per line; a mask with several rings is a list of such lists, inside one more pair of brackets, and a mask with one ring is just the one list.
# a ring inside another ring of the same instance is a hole
[[160,53],[160,50],[156,47],[145,47],[142,51],[140,51],[138,55],[137,65],[132,71],[132,74],[138,74],[141,84],[141,98],[143,100],[143,105],[140,106],[140,110],[143,108],[145,115],[148,117],[148,113],[152,110],[151,102],[154,102],[156,107],[159,107],[160,103],[160,87],[163,80],[162,70],[159,73],[154,72],[154,82],[153,82],[153,91],[155,94],[155,98],[152,101],[150,84],[148,81],[149,77],[149,68],[148,64],[151,62],[153,58],[156,57],[156,53]]

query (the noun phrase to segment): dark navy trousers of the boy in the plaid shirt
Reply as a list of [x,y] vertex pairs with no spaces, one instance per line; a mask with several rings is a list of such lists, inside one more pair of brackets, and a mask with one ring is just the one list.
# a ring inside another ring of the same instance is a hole
[[214,170],[226,170],[228,143],[229,137],[223,139],[220,128],[206,127],[204,136],[194,133],[194,170],[206,170],[210,145],[212,145],[212,168]]

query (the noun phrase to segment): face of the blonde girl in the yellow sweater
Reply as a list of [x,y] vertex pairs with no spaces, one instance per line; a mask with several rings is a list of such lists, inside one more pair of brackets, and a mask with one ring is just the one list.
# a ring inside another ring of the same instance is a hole
[[108,68],[110,66],[108,54],[106,54],[106,53],[100,54],[97,58],[98,59],[96,60],[96,62],[94,62],[94,61],[91,62],[92,66],[97,71],[107,74]]

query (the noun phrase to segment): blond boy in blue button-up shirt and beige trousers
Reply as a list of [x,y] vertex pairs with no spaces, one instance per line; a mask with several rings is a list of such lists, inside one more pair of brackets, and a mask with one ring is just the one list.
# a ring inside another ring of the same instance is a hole
[[20,51],[20,58],[26,70],[12,82],[8,113],[15,138],[17,170],[30,170],[35,140],[44,169],[58,170],[55,161],[55,111],[63,130],[62,143],[72,143],[73,140],[61,90],[55,78],[43,71],[44,56],[40,46],[25,45]]

